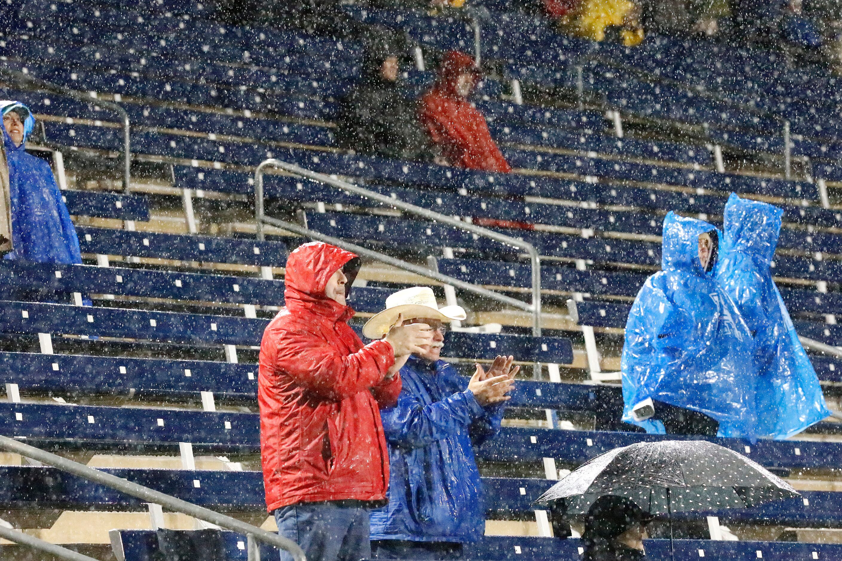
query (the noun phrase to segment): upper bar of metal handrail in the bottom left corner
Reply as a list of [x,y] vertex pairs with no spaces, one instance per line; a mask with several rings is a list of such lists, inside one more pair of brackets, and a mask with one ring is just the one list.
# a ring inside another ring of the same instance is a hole
[[[160,491],[144,487],[143,485],[126,481],[125,479],[121,479],[112,474],[106,474],[98,469],[88,468],[88,466],[83,463],[74,462],[67,458],[61,458],[61,456],[45,452],[40,448],[29,446],[29,444],[24,444],[23,442],[19,442],[13,438],[0,436],[0,448],[6,450],[7,452],[20,454],[26,458],[32,458],[40,463],[53,466],[54,468],[59,468],[62,471],[66,471],[68,474],[73,474],[77,477],[88,479],[88,481],[93,481],[94,483],[110,487],[111,489],[120,491],[120,493],[131,495],[143,500],[144,502],[161,505],[169,511],[181,512],[188,516],[198,518],[199,520],[215,524],[218,527],[226,528],[226,530],[232,530],[233,532],[245,534],[248,537],[249,542],[257,540],[259,542],[268,543],[275,548],[285,549],[290,552],[294,561],[306,561],[304,552],[300,547],[298,547],[296,542],[279,536],[278,534],[266,532],[263,528],[258,528],[256,526],[252,526],[251,524],[238,521],[236,518],[232,518],[231,516],[225,516],[224,514],[211,511],[210,509],[202,506],[194,505],[186,500],[176,499],[172,495],[167,495]],[[70,559],[72,559],[72,561],[88,560],[87,557]],[[249,557],[249,559],[251,560],[251,557]]]

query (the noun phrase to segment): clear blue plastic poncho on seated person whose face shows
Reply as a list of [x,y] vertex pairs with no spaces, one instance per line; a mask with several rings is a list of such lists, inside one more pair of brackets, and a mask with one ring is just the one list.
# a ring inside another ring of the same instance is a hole
[[626,322],[623,421],[663,434],[661,421],[632,417],[652,398],[719,421],[720,437],[754,439],[754,344],[736,304],[701,266],[705,232],[716,228],[672,212],[663,219],[662,270],[647,278]]

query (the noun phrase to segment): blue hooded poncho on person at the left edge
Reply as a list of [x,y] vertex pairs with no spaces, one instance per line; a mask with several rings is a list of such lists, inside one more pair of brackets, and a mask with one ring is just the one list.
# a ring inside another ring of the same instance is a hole
[[26,151],[26,136],[35,127],[35,118],[22,103],[0,101],[0,113],[22,110],[24,142],[14,146],[3,129],[3,146],[8,161],[9,199],[12,205],[13,251],[7,259],[35,262],[81,263],[82,252],[76,229],[61,199],[50,164]]

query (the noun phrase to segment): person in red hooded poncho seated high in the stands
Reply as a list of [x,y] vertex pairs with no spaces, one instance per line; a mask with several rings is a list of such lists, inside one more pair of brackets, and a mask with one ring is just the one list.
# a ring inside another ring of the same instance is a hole
[[421,124],[451,166],[508,173],[512,168],[491,138],[485,117],[467,100],[479,77],[470,56],[447,52],[438,80],[421,99]]

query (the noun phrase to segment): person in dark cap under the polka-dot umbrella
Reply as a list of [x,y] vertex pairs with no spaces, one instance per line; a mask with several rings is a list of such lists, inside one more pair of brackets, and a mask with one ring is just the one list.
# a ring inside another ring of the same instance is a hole
[[646,557],[643,540],[646,522],[652,516],[632,500],[604,495],[590,506],[585,516],[583,561],[638,561]]

